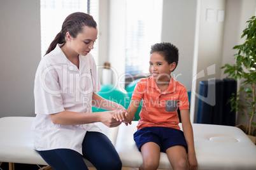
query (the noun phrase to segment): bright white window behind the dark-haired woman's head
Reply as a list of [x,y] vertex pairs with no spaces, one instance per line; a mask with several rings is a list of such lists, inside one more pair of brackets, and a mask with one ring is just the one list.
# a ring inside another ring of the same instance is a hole
[[[99,21],[99,0],[41,0],[41,56],[43,57],[53,41],[60,32],[65,18],[77,11],[89,13],[94,20]],[[98,28],[99,29],[99,28]],[[94,44],[91,51],[94,59],[98,59],[98,44]]]

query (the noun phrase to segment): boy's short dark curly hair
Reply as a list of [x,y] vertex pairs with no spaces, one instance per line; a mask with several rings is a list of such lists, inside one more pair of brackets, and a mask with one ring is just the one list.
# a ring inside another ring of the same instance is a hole
[[151,46],[150,55],[152,53],[159,53],[160,55],[164,56],[164,60],[166,60],[168,64],[175,62],[177,67],[179,60],[179,49],[170,42],[160,42],[153,44]]

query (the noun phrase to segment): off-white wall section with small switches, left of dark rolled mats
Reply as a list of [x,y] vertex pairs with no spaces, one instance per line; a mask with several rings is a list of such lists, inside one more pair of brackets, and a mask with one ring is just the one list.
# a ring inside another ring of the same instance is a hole
[[[197,29],[195,56],[192,74],[192,93],[190,117],[197,119],[197,105],[200,81],[220,79],[222,67],[222,45],[224,36],[224,22],[217,21],[218,10],[225,10],[225,0],[197,1]],[[212,20],[206,20],[207,10],[213,10]],[[201,74],[199,74],[201,73]]]

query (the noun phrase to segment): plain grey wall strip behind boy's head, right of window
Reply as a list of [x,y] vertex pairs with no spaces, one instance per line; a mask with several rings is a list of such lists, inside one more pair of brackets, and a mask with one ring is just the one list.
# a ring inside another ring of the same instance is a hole
[[180,53],[177,68],[172,73],[176,81],[191,90],[192,62],[196,29],[196,0],[164,0],[162,42],[171,42]]

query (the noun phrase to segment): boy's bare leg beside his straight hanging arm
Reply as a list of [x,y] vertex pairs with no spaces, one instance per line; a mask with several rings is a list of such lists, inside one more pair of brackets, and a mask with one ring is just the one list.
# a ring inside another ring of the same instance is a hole
[[188,158],[185,147],[174,145],[166,150],[167,157],[173,169],[188,169]]

